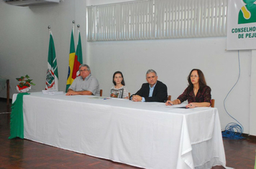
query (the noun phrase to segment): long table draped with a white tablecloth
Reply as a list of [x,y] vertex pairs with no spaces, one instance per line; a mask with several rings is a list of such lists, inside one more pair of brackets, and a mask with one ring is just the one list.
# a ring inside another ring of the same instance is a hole
[[93,96],[24,95],[24,138],[140,168],[226,165],[216,108]]

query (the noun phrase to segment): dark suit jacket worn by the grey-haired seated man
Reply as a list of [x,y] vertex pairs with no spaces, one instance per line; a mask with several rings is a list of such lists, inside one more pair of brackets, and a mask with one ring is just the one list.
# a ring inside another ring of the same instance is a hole
[[[143,83],[140,90],[136,92],[134,95],[140,95],[141,97],[144,97],[145,102],[166,102],[168,97],[166,85],[163,84],[163,82],[160,82],[158,80],[157,80],[157,84],[155,84],[152,97],[148,97],[148,95],[150,95],[149,83]],[[130,97],[130,100],[132,99],[132,96]]]

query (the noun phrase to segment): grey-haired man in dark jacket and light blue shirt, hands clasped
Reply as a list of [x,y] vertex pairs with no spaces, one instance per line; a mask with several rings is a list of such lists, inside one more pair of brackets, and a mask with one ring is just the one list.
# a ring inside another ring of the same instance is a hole
[[147,70],[147,83],[142,84],[138,92],[129,99],[134,102],[166,102],[167,87],[157,80],[157,73],[153,69]]

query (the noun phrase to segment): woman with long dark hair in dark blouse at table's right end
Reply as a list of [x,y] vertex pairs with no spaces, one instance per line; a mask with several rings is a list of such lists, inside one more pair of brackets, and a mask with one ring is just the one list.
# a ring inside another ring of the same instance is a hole
[[188,74],[188,87],[176,100],[165,102],[165,105],[178,105],[188,100],[187,108],[209,107],[211,105],[211,88],[207,86],[204,74],[200,69],[192,69]]

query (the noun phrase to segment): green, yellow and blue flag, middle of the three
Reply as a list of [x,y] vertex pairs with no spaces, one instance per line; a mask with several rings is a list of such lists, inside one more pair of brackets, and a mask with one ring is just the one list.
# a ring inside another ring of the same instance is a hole
[[73,74],[73,66],[75,61],[75,42],[74,42],[74,24],[71,32],[71,39],[70,39],[70,50],[69,50],[69,64],[68,64],[68,79],[66,84],[65,92],[68,92],[68,87],[73,82],[72,74]]

